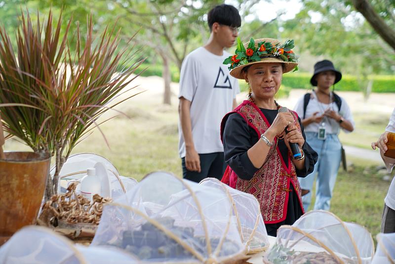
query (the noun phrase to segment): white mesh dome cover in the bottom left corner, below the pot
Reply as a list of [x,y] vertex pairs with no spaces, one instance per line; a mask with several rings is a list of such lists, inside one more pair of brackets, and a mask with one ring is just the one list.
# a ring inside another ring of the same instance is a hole
[[113,248],[76,246],[51,229],[30,225],[0,247],[1,264],[117,264],[138,263],[135,257]]

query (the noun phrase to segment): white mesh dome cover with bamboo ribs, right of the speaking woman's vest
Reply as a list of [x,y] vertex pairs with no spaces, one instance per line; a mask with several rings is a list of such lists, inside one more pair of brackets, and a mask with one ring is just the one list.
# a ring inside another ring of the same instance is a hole
[[280,226],[267,259],[272,263],[364,264],[372,261],[373,254],[372,236],[364,227],[317,210],[292,226]]

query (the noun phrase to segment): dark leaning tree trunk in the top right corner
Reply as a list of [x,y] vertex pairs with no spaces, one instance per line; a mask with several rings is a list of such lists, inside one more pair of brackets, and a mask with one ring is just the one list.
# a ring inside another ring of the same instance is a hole
[[367,0],[352,0],[353,4],[372,26],[372,28],[395,50],[395,30],[375,12]]

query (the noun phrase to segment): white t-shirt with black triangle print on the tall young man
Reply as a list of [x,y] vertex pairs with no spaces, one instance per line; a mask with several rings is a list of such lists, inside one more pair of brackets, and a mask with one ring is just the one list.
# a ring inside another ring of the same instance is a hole
[[[237,79],[232,77],[222,56],[199,47],[188,54],[181,66],[178,98],[191,101],[192,136],[199,154],[223,152],[220,125],[225,114],[232,111],[233,99],[240,92]],[[180,157],[185,157],[185,142],[178,123]]]

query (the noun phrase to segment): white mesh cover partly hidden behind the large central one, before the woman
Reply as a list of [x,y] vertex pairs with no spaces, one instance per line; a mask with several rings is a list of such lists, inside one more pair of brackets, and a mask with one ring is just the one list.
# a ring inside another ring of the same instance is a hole
[[262,219],[259,202],[252,194],[236,190],[216,178],[205,178],[199,184],[216,188],[230,195],[233,214],[237,219],[237,229],[248,254],[264,251],[269,247],[268,233]]

